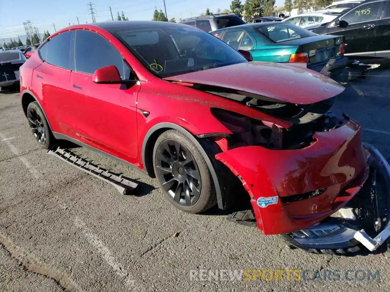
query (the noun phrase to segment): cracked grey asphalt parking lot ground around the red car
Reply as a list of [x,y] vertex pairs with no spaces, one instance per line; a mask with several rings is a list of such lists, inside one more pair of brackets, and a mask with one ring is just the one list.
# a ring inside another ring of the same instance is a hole
[[[368,74],[346,85],[334,110],[359,121],[365,141],[389,157],[390,69]],[[140,196],[121,195],[39,149],[19,93],[0,93],[0,291],[388,291],[386,249],[352,257],[291,250],[281,237],[230,223],[217,209],[182,213],[165,201],[155,180],[89,150],[73,150],[144,183]],[[299,269],[306,276],[198,277],[246,269]],[[316,271],[341,277],[310,280]],[[376,271],[374,279],[362,276]]]

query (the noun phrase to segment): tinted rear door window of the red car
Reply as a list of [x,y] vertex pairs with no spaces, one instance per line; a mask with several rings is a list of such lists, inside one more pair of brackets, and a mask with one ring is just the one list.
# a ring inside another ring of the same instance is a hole
[[48,41],[46,48],[46,62],[51,65],[70,69],[69,56],[72,32],[63,32]]

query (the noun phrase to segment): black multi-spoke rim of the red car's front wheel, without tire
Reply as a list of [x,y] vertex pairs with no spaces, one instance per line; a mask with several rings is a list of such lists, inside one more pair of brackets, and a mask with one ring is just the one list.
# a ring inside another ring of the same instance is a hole
[[165,140],[156,151],[156,175],[162,188],[177,204],[194,205],[200,196],[202,181],[198,165],[190,151],[174,140]]

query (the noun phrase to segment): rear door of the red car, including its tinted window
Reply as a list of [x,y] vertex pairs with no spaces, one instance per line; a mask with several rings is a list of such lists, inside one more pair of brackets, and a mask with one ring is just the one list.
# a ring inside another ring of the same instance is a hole
[[[63,123],[62,107],[70,94],[69,78],[72,62],[70,47],[73,43],[73,32],[64,32],[46,41],[35,53],[43,60],[33,70],[32,88],[40,100],[53,132],[66,133]],[[74,62],[73,62],[74,65]]]

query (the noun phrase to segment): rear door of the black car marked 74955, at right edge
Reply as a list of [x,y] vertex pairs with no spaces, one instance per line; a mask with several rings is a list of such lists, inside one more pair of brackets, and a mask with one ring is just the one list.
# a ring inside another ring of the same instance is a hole
[[383,2],[376,27],[376,57],[390,56],[390,0]]

